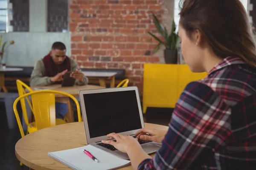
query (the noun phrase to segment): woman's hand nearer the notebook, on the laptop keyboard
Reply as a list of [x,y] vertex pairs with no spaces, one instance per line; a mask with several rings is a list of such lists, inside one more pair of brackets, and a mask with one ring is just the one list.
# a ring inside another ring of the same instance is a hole
[[118,133],[110,133],[108,134],[108,137],[110,139],[116,139],[116,142],[113,140],[103,140],[102,143],[111,144],[113,147],[123,153],[127,153],[130,148],[137,148],[138,150],[142,149],[138,139],[135,139],[132,136],[123,136]]

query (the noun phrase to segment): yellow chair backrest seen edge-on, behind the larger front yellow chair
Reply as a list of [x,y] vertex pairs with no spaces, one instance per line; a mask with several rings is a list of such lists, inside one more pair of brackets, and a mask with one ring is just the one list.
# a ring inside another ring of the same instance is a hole
[[[18,90],[19,96],[26,94],[26,90],[29,92],[32,92],[32,89],[28,85],[26,85],[24,82],[20,81],[19,79],[16,80],[16,84],[17,84],[17,90]],[[26,96],[26,100],[29,103],[29,107],[30,107],[32,113],[34,113],[31,102],[27,96]],[[26,125],[29,125],[29,119],[28,119],[26,103],[25,103],[24,98],[20,99],[20,105],[21,105],[21,109],[23,112],[24,121],[25,121]]]

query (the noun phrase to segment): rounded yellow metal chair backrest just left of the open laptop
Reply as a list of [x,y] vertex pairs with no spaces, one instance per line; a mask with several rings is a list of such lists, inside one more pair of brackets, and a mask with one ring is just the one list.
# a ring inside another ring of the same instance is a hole
[[13,103],[13,111],[17,119],[21,137],[24,136],[24,131],[20,122],[19,114],[17,112],[17,102],[27,96],[31,96],[34,109],[35,124],[37,129],[39,130],[45,127],[55,125],[55,94],[65,95],[73,99],[73,101],[76,103],[78,121],[81,122],[79,102],[71,94],[52,90],[32,91],[22,96],[19,96]]

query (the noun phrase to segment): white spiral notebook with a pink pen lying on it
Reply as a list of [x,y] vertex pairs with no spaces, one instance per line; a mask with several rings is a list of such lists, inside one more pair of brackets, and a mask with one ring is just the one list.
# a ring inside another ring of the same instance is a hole
[[[83,150],[88,150],[99,162],[87,156]],[[67,165],[73,170],[112,170],[130,164],[130,161],[120,159],[96,147],[87,145],[69,150],[49,152],[49,156]]]

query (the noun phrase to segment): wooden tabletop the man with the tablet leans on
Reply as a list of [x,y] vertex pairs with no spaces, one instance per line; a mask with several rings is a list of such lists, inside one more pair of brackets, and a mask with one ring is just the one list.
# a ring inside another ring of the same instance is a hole
[[[99,89],[103,88],[98,85],[74,85],[71,87],[61,87],[61,85],[48,85],[48,86],[34,86],[31,87],[31,89],[37,90],[37,89],[44,89],[44,90],[55,90],[55,91],[62,91],[68,94],[71,94],[73,96],[79,96],[80,90],[89,90],[89,89]],[[62,95],[56,94],[56,96],[60,97]]]

